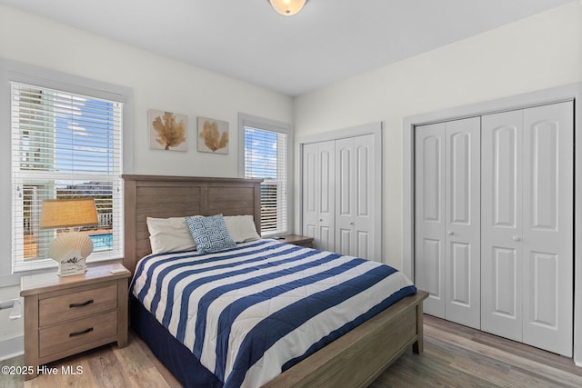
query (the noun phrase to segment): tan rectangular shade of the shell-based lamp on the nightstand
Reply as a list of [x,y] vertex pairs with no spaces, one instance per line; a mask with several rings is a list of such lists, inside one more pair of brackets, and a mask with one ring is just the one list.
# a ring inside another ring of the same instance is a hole
[[41,228],[95,226],[98,224],[94,198],[46,199],[40,216]]

